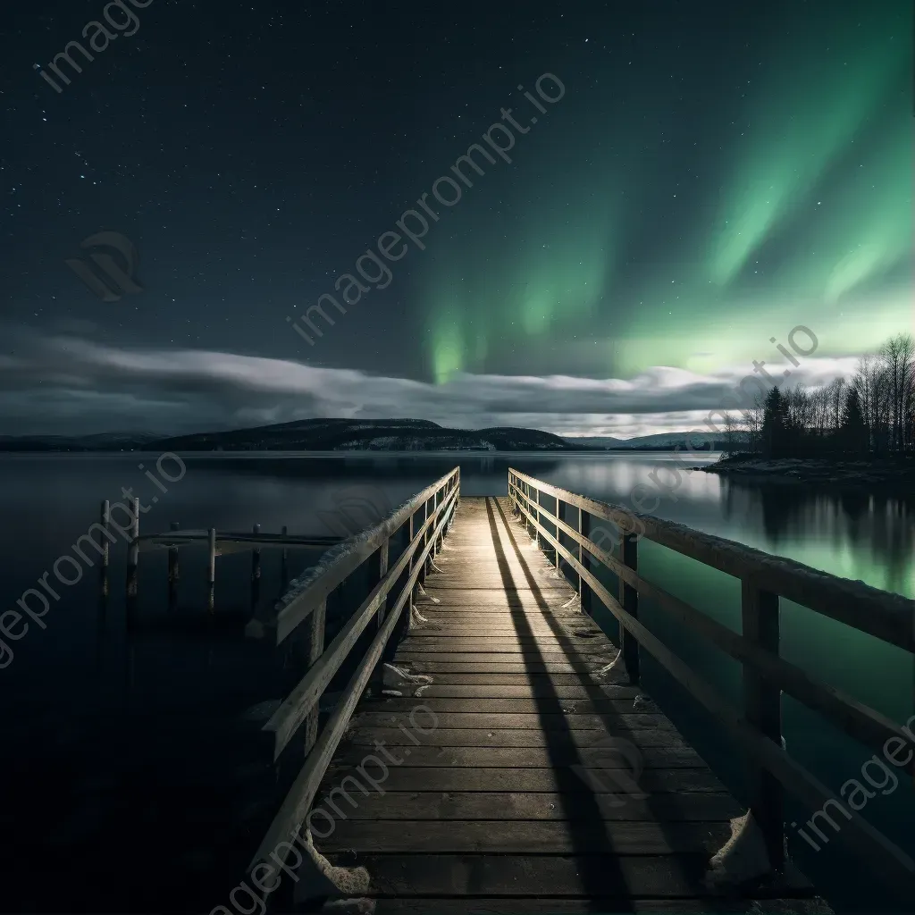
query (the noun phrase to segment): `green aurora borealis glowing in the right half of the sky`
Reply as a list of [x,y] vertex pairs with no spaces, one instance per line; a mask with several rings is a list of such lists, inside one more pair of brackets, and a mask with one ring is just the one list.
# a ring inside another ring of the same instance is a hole
[[[911,5],[872,7],[782,16],[715,61],[589,38],[596,77],[570,65],[423,255],[429,375],[704,373],[798,324],[824,356],[911,329]],[[444,174],[463,149],[439,148]]]

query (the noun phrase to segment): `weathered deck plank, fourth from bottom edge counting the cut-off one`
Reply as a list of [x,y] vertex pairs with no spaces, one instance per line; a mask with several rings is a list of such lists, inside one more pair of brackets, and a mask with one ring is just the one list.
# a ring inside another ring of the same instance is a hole
[[[336,814],[337,805],[347,819],[360,822],[436,820],[450,822],[451,828],[461,828],[456,823],[463,820],[577,823],[593,822],[596,816],[604,821],[729,823],[745,813],[729,794],[712,791],[658,794],[647,800],[619,793],[560,791],[385,791],[364,797],[356,790],[350,791],[350,797],[355,803],[347,802],[339,791],[328,798],[325,791],[316,799],[316,806]],[[360,845],[358,839],[354,842]]]

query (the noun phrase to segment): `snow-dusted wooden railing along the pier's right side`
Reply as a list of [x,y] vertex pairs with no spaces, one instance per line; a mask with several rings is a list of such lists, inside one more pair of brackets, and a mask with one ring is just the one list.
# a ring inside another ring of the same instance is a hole
[[[544,507],[543,499],[553,502]],[[888,717],[863,705],[833,686],[823,684],[779,654],[779,597],[867,632],[904,651],[915,652],[915,601],[888,594],[861,582],[816,571],[789,559],[770,556],[741,544],[700,533],[682,524],[588,499],[509,469],[509,498],[513,510],[537,537],[577,575],[583,612],[594,598],[619,621],[620,651],[630,681],[640,677],[640,651],[648,651],[694,699],[716,716],[727,734],[743,749],[750,771],[749,809],[765,837],[770,863],[780,867],[785,856],[783,791],[787,789],[812,811],[838,802],[834,793],[785,752],[781,741],[781,693],[792,695],[826,717],[869,748],[910,748],[912,734]],[[577,510],[576,526],[563,520],[562,505]],[[594,521],[609,522],[619,532],[600,530]],[[553,533],[544,527],[544,521]],[[561,535],[576,546],[569,549]],[[701,610],[647,581],[638,572],[638,542],[645,537],[689,556],[742,583],[742,633],[728,629]],[[607,540],[619,546],[619,558],[605,548]],[[619,596],[611,595],[594,574],[603,565],[619,579]],[[710,641],[743,665],[744,707],[738,709],[720,696],[675,651],[639,620],[640,597],[651,600],[672,619]],[[913,770],[912,754],[900,768]],[[915,887],[915,862],[877,832],[854,810],[843,805],[847,819],[837,826],[840,838],[910,899]],[[827,812],[831,808],[824,808]],[[832,808],[834,813],[834,807]]]

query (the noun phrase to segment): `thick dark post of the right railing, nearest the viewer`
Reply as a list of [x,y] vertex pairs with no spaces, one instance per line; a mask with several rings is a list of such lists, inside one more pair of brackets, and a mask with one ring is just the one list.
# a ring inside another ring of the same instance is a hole
[[[741,586],[743,637],[763,651],[779,655],[779,596],[745,578]],[[743,666],[744,711],[750,725],[781,748],[781,692],[778,686]],[[770,771],[749,762],[749,810],[759,825],[773,869],[785,861],[783,792]]]

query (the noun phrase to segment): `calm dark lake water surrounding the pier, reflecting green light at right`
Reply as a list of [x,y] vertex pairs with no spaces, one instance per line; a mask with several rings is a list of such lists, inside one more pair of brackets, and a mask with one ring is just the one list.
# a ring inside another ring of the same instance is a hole
[[[125,501],[122,490],[138,496],[143,533],[178,522],[183,529],[250,531],[259,523],[264,532],[286,525],[290,533],[317,534],[339,533],[334,519],[341,509],[350,525],[386,514],[458,461],[466,496],[504,495],[509,466],[628,508],[636,484],[654,489],[652,473],[673,479],[671,457],[658,453],[186,456],[183,476],[171,460],[156,470],[157,457],[0,456],[0,612],[16,608],[45,573],[59,594],[50,600],[46,629],[32,622],[21,640],[6,640],[14,656],[0,670],[0,829],[14,839],[5,869],[17,875],[7,882],[0,909],[209,911],[227,904],[236,868],[247,863],[283,791],[252,737],[288,672],[277,673],[274,657],[242,638],[250,615],[250,554],[217,561],[214,617],[203,610],[202,551],[182,554],[177,611],[166,607],[165,554],[142,554],[135,625],[127,627],[120,539],[112,547],[106,599],[100,599],[97,568],[64,561],[62,574],[79,577],[71,586],[60,585],[52,571],[60,556],[74,555],[72,544],[97,521],[102,499]],[[642,498],[643,510],[653,506]],[[866,493],[761,486],[694,472],[662,493],[651,513],[915,597],[913,508],[913,501]],[[292,554],[291,574],[317,555]],[[640,544],[640,574],[739,630],[736,579],[647,541]],[[261,599],[272,601],[280,588],[279,557],[267,551]],[[34,594],[27,600],[40,608]],[[789,601],[781,607],[786,659],[899,723],[912,716],[910,656]],[[706,680],[739,697],[735,662],[673,625],[650,601],[640,605],[640,615]],[[615,636],[608,613],[598,610],[596,618]],[[0,655],[0,663],[5,660],[8,654]],[[643,664],[646,690],[740,795],[737,752],[657,665]],[[790,697],[783,703],[793,758],[834,791],[860,777],[870,756],[864,748]],[[877,792],[861,813],[915,855],[910,779]],[[810,815],[789,814],[798,822]],[[813,852],[792,836],[791,853],[836,910],[886,908],[838,839]]]

